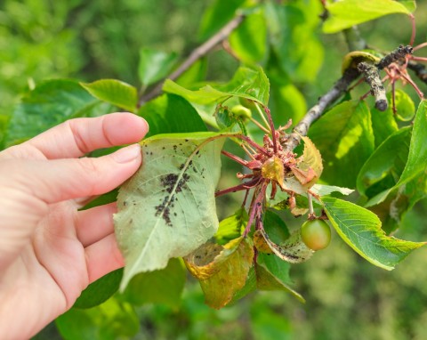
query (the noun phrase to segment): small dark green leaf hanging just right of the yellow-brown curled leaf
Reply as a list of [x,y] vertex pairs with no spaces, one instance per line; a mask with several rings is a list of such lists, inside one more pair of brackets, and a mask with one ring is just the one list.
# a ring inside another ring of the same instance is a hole
[[285,290],[294,295],[302,303],[305,299],[291,286],[293,282],[289,277],[291,265],[282,261],[275,255],[260,253],[257,257],[256,285],[260,290]]

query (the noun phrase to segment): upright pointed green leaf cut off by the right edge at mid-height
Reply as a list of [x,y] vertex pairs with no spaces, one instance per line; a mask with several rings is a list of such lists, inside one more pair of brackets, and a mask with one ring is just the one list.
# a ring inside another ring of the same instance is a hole
[[427,166],[427,101],[421,101],[416,111],[414,129],[407,156],[407,166],[396,186],[403,185],[425,172]]

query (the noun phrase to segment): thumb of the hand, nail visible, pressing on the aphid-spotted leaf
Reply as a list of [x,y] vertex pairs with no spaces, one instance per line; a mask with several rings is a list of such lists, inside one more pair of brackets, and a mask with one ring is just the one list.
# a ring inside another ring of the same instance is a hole
[[[22,189],[47,204],[101,195],[132,176],[141,165],[141,146],[133,144],[101,158],[21,161]],[[22,165],[23,163],[23,165]]]

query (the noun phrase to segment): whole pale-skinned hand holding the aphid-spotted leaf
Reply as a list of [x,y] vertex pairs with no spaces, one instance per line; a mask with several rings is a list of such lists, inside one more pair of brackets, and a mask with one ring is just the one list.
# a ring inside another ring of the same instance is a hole
[[[77,118],[0,152],[0,339],[26,339],[124,265],[115,203],[78,211],[141,165],[141,117]],[[133,144],[101,158],[86,153]]]

